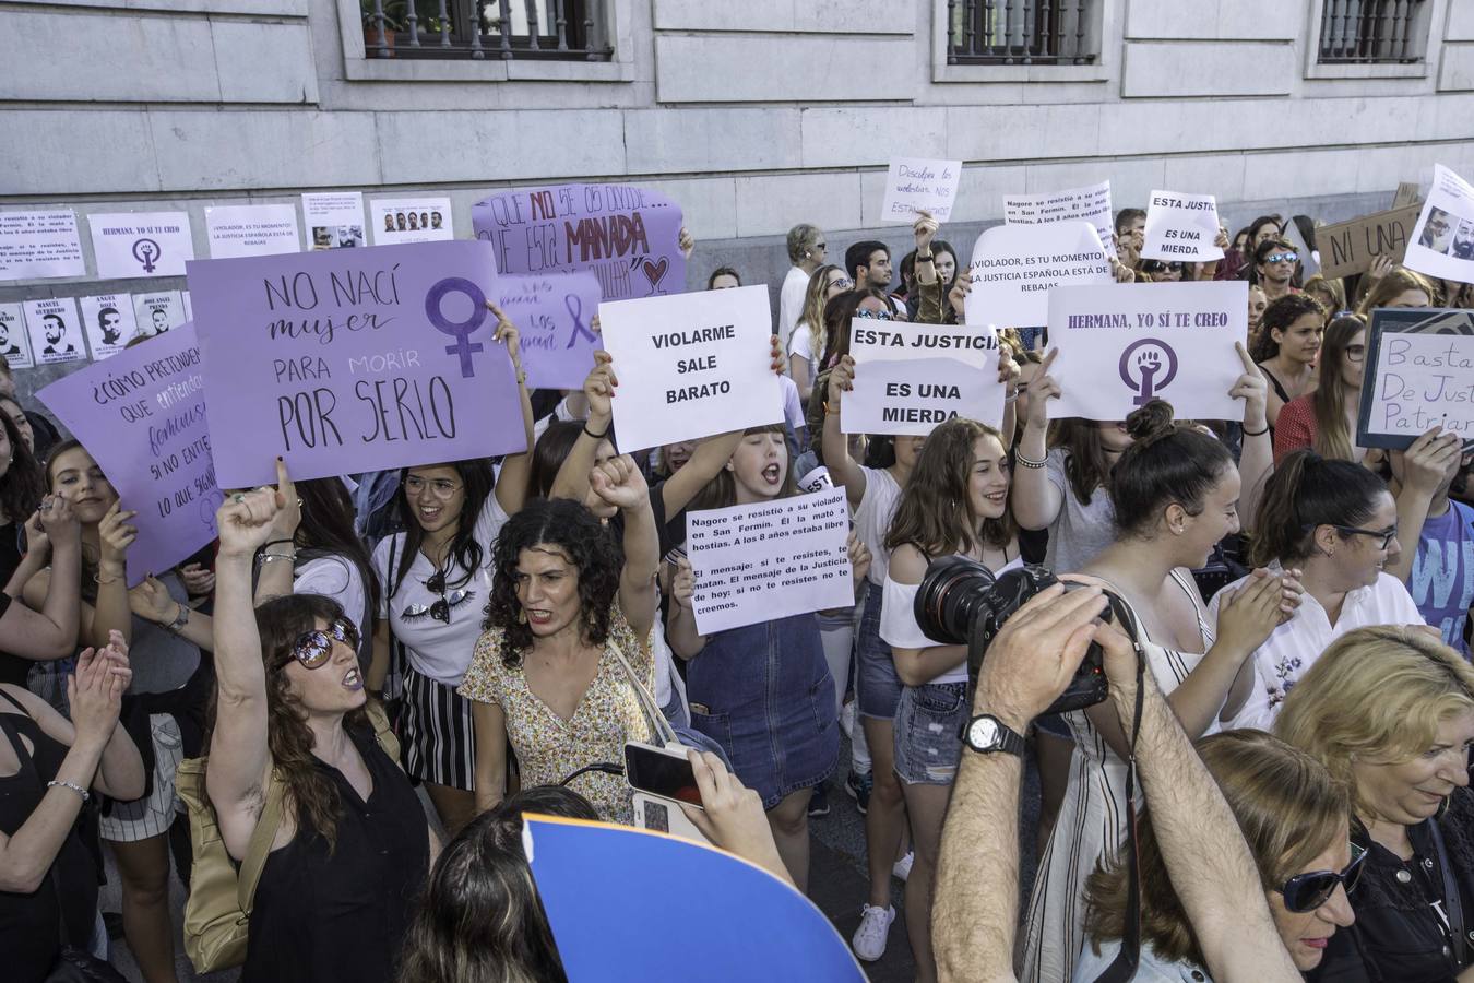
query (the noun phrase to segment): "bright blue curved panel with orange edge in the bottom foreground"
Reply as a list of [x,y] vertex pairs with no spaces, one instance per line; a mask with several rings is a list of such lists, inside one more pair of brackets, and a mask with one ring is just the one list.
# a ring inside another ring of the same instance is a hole
[[[865,983],[849,945],[814,902],[731,853],[531,814],[522,843],[570,980]],[[681,896],[678,917],[652,915],[641,899],[665,898],[671,884],[702,889]]]

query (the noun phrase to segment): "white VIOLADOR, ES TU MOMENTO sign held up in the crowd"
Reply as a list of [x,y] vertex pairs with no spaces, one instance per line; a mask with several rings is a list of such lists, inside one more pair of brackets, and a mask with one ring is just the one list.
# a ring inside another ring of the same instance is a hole
[[993,225],[973,246],[968,324],[1041,327],[1049,320],[1049,290],[1114,283],[1110,258],[1086,221]]

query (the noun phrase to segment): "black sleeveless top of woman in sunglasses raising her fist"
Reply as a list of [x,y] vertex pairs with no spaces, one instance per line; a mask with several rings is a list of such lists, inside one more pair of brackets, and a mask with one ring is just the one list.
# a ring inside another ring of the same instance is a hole
[[368,802],[317,759],[342,803],[332,853],[298,828],[267,858],[251,912],[242,983],[388,983],[411,903],[429,872],[430,837],[410,780],[373,734],[349,731],[373,778]]

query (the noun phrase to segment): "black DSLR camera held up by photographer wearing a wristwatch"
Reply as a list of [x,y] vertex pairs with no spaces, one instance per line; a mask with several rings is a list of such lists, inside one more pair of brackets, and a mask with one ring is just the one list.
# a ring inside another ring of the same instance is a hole
[[[976,687],[977,669],[988,654],[988,646],[1002,631],[1004,623],[1030,597],[1054,584],[1063,584],[1066,591],[1083,587],[1060,581],[1042,566],[1024,566],[995,576],[977,560],[942,557],[927,566],[921,588],[917,591],[917,625],[929,638],[967,646],[967,676]],[[1131,609],[1111,591],[1106,591],[1106,598],[1108,606],[1101,618],[1119,623],[1135,643],[1136,625]],[[1092,641],[1070,685],[1045,712],[1063,713],[1094,706],[1104,700],[1108,691],[1101,647]]]

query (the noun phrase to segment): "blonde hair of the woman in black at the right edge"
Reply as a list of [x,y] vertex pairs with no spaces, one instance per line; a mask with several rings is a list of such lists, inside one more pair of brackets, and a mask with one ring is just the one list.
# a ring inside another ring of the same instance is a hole
[[1337,638],[1290,690],[1275,734],[1352,788],[1352,760],[1405,762],[1439,724],[1474,710],[1474,668],[1422,628],[1378,625]]

